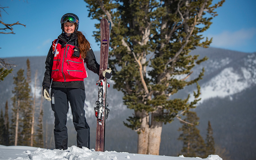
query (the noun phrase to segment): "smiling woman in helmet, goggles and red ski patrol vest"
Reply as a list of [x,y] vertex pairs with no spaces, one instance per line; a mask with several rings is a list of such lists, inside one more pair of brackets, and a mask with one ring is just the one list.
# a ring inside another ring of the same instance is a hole
[[[82,32],[77,31],[78,17],[73,13],[61,18],[62,33],[52,42],[48,52],[43,81],[43,96],[51,101],[54,111],[54,139],[56,149],[68,148],[67,113],[70,103],[73,124],[77,132],[77,146],[90,148],[90,127],[84,111],[86,67],[99,75],[100,65]],[[111,69],[103,71],[110,78]],[[49,89],[51,89],[51,96]]]

